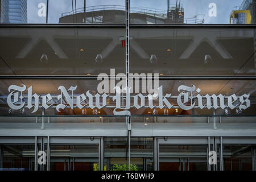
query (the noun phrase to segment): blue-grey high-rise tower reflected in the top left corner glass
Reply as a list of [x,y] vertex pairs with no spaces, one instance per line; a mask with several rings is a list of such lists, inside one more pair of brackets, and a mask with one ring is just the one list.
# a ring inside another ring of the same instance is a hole
[[26,0],[0,0],[1,23],[27,23]]

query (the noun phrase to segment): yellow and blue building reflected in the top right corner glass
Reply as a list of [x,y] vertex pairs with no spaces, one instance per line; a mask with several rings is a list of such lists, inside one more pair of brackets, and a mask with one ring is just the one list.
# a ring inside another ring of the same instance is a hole
[[256,23],[256,0],[243,0],[239,10],[233,10],[230,14],[230,24]]

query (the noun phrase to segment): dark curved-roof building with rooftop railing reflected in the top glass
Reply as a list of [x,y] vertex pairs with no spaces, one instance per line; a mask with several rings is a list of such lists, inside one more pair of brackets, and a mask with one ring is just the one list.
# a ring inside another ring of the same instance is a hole
[[[131,7],[130,23],[189,23],[203,24],[204,15],[184,19],[182,5],[168,6],[167,10],[152,9],[148,7]],[[99,5],[82,7],[61,14],[59,23],[125,23],[125,6]]]

